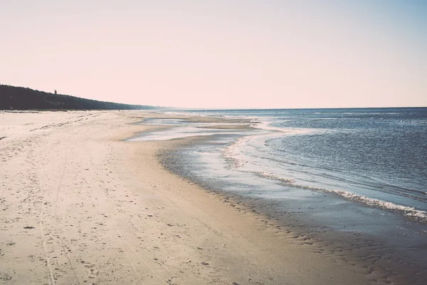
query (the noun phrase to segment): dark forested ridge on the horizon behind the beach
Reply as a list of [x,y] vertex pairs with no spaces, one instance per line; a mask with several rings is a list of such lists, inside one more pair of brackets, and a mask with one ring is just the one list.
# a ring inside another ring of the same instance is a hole
[[0,110],[147,110],[153,106],[130,105],[54,94],[0,84]]

